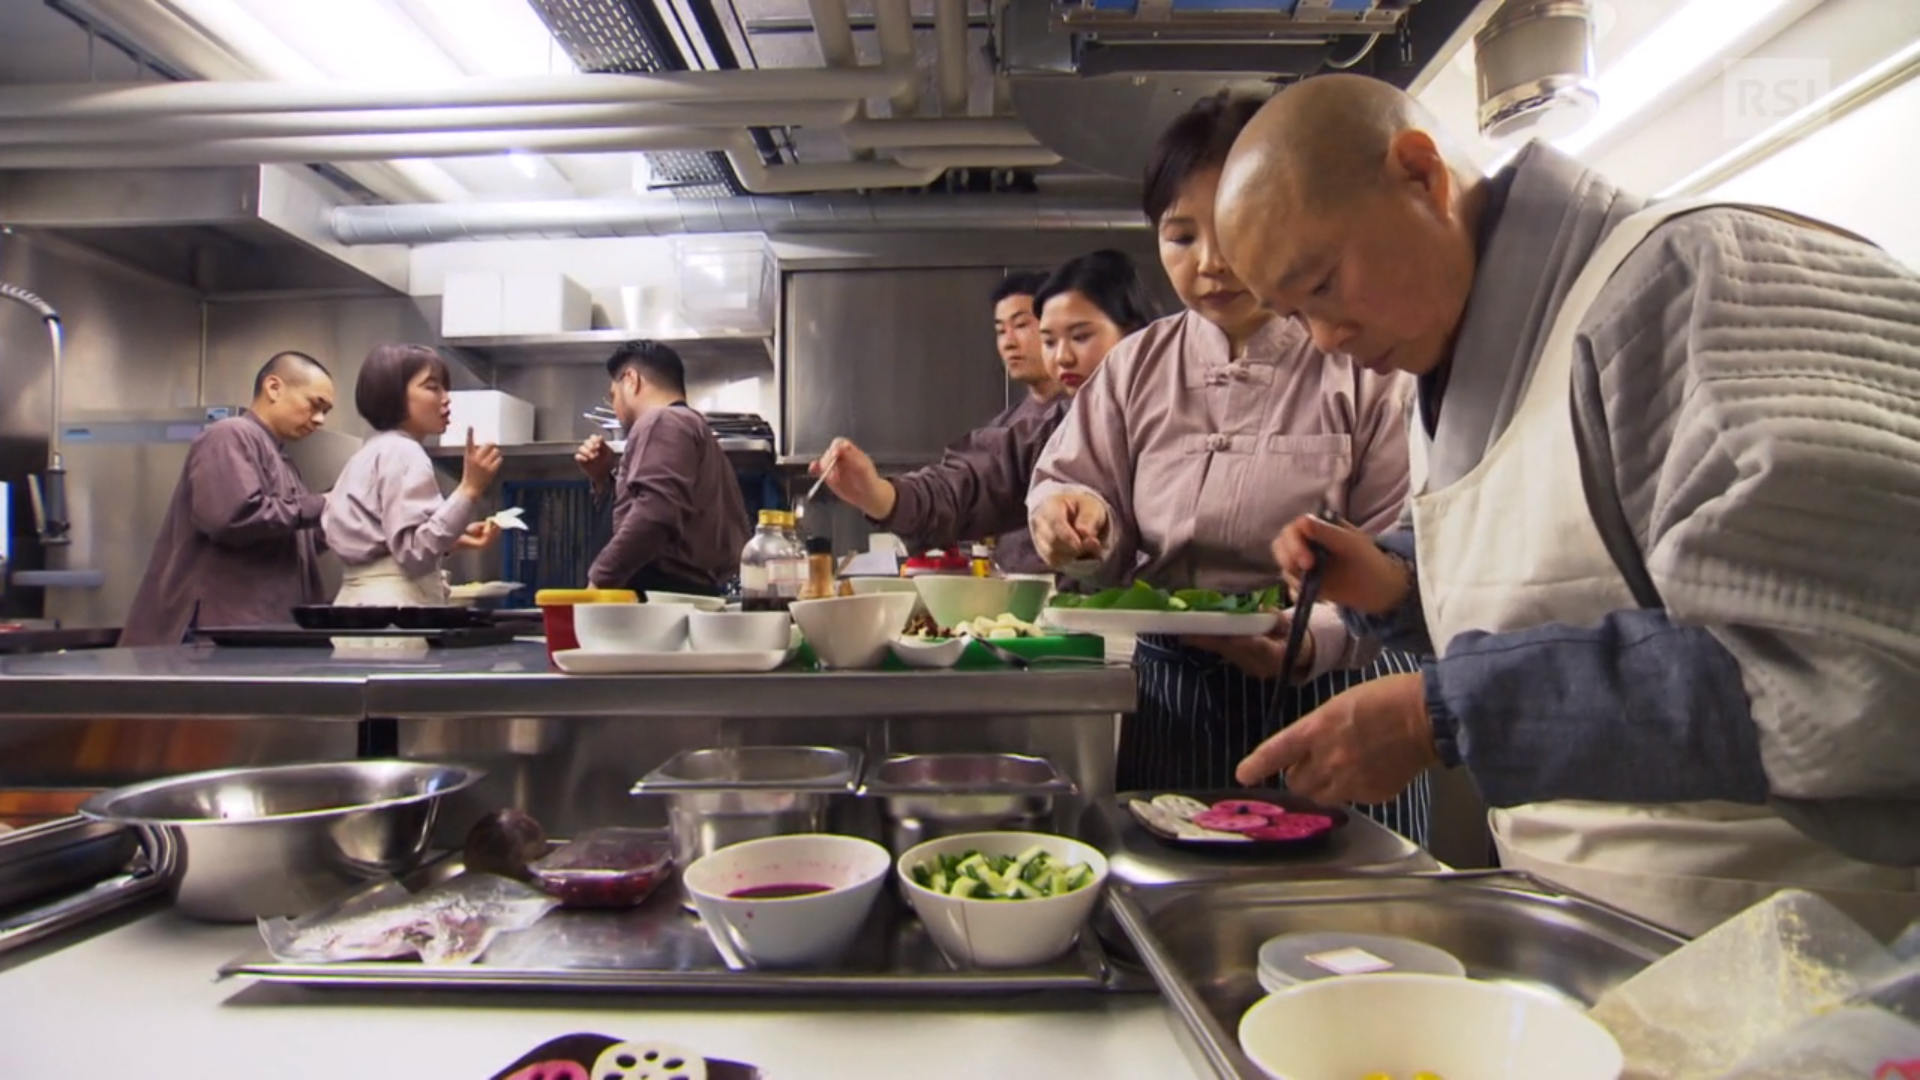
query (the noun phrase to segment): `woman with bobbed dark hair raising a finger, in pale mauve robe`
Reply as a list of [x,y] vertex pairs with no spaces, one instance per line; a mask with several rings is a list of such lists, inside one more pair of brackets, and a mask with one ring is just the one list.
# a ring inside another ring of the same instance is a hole
[[367,354],[353,405],[374,434],[348,459],[326,496],[326,546],[346,563],[344,605],[444,605],[442,563],[455,548],[480,548],[499,528],[474,521],[499,473],[499,448],[468,434],[459,488],[440,494],[420,440],[447,430],[447,361],[426,346],[378,346]]

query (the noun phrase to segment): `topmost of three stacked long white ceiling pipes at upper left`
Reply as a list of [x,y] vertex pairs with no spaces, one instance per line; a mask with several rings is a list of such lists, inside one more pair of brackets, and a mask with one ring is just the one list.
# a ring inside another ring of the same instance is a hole
[[0,86],[0,121],[204,113],[599,106],[634,102],[854,102],[918,79],[895,67],[526,75],[380,86],[369,83],[56,83]]

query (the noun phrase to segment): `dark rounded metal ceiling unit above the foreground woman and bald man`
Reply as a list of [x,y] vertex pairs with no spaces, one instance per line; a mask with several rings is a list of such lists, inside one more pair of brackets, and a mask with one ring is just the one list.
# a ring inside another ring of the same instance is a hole
[[[996,25],[1014,111],[1075,165],[1139,177],[1152,140],[1217,90],[1271,92],[1361,63],[1413,0],[1010,0]],[[1384,52],[1384,50],[1382,50]],[[1089,123],[1125,117],[1125,123]]]

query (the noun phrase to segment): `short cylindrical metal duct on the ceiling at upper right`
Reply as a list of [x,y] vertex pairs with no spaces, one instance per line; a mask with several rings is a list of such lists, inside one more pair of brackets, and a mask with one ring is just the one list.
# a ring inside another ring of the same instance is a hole
[[1480,135],[1553,140],[1599,111],[1588,0],[1507,0],[1473,38]]

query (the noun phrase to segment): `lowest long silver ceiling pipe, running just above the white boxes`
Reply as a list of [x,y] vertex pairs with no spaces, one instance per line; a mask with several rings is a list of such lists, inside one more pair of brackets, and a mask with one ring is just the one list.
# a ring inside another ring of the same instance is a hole
[[[810,165],[787,165],[785,169]],[[774,169],[774,171],[785,171]],[[851,231],[1068,231],[1144,229],[1133,198],[870,196],[551,200],[411,206],[342,206],[332,233],[342,244],[438,244],[551,236],[676,236],[687,233]]]

